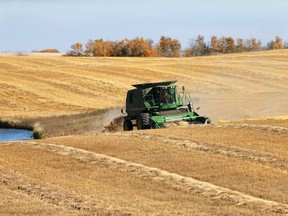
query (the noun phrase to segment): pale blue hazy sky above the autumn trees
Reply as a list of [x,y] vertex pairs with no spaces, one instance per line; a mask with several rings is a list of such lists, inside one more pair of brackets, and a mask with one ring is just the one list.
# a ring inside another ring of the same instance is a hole
[[58,49],[89,39],[197,35],[288,42],[287,0],[0,0],[0,52]]

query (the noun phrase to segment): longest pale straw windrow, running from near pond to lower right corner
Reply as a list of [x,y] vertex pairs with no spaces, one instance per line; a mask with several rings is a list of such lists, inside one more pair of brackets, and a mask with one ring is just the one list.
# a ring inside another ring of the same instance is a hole
[[88,152],[73,147],[34,142],[18,142],[16,144],[29,146],[31,148],[40,148],[80,160],[89,161],[90,163],[101,164],[104,167],[130,172],[140,178],[161,182],[177,190],[199,193],[212,199],[226,200],[230,203],[235,203],[236,205],[251,205],[253,207],[270,210],[271,212],[276,211],[288,214],[288,205],[252,197],[227,188],[218,187],[208,182],[198,181],[176,173],[169,173],[165,170],[147,167],[141,164],[131,163],[118,158]]

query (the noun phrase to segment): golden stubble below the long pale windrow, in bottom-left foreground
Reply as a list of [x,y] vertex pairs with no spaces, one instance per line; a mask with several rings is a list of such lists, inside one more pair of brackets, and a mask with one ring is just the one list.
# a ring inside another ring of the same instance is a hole
[[[252,215],[252,212],[260,214],[263,208],[271,208],[269,205],[276,205],[275,210],[279,208],[277,211],[283,211],[283,207],[277,203],[268,203],[255,212],[236,207],[233,203],[229,205],[229,200],[224,207],[220,207],[220,200],[166,186],[156,178],[151,181],[149,176],[139,177],[132,170],[121,169],[121,164],[119,167],[109,167],[105,162],[98,162],[89,152],[85,157],[82,150],[73,152],[68,148],[65,156],[64,152],[59,154],[59,149],[53,145],[48,144],[47,148],[41,145],[40,150],[33,146],[29,143],[1,146],[1,159],[8,155],[4,159],[7,165],[1,167],[1,182],[6,182],[6,189],[14,193],[24,193],[68,212],[76,209],[79,214],[103,215],[139,215],[143,212],[167,215],[238,212],[239,215]],[[141,170],[139,174],[142,172],[145,174]],[[40,213],[47,212],[43,209]]]

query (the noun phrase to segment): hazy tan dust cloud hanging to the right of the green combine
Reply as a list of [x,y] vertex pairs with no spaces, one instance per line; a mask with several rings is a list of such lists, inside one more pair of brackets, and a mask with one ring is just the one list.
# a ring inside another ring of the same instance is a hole
[[[188,88],[187,88],[188,89]],[[260,117],[287,116],[288,96],[285,92],[213,92],[190,91],[194,108],[217,123]]]

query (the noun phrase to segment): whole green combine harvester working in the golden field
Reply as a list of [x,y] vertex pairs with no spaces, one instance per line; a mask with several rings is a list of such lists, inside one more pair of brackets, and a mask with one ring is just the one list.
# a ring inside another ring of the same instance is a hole
[[126,98],[127,116],[124,131],[165,127],[167,122],[186,121],[191,124],[209,124],[211,120],[199,116],[193,109],[189,92],[177,91],[177,81],[133,85]]

